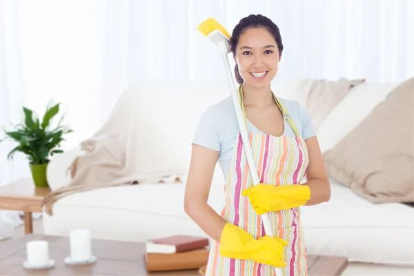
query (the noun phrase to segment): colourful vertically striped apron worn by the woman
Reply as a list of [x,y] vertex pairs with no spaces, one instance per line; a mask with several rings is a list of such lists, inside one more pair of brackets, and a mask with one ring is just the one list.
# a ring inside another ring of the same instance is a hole
[[[289,117],[283,103],[275,97],[277,105],[295,133],[295,137],[275,137],[249,132],[253,159],[257,167],[259,180],[268,185],[300,184],[308,166],[308,151],[304,139],[297,132],[293,120]],[[265,235],[262,217],[255,213],[248,197],[242,190],[253,185],[248,163],[243,148],[242,136],[239,134],[233,149],[230,170],[226,177],[226,202],[221,217],[226,221],[246,230],[256,239]],[[268,213],[273,235],[288,242],[284,249],[283,275],[307,275],[306,248],[300,224],[300,208],[279,210]],[[232,259],[219,255],[219,243],[213,241],[208,257],[206,275],[275,275],[273,266],[259,264],[250,260]]]

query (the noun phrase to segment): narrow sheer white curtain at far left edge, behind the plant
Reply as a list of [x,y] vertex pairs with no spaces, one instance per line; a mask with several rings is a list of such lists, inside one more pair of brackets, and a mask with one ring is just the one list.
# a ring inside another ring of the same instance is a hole
[[[12,1],[0,1],[0,126],[10,126],[21,119],[23,103],[23,75],[17,21],[17,6]],[[1,128],[3,130],[3,128]],[[1,132],[0,139],[4,133]],[[16,155],[14,161],[6,156],[14,148],[10,141],[0,144],[0,186],[28,175],[24,157]],[[0,210],[0,240],[11,237],[13,229],[22,224],[17,212]]]

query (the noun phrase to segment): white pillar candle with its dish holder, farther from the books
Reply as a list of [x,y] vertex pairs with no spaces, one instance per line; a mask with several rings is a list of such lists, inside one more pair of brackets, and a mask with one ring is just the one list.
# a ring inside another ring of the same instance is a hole
[[23,268],[40,270],[55,266],[55,260],[49,259],[49,244],[46,241],[32,241],[26,244],[27,259]]

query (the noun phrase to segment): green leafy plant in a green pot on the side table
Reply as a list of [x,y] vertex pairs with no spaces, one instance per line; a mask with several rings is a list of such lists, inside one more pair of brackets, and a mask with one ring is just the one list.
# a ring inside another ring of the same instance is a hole
[[61,124],[63,117],[57,126],[52,127],[52,119],[59,113],[59,106],[60,103],[48,106],[41,121],[39,118],[33,118],[32,110],[23,107],[23,124],[17,124],[12,131],[5,130],[6,137],[4,139],[12,139],[18,143],[9,152],[7,158],[12,159],[14,153],[23,152],[26,159],[29,160],[34,185],[38,187],[49,186],[46,169],[50,157],[63,152],[60,149],[61,141],[65,140],[63,135],[72,132]]

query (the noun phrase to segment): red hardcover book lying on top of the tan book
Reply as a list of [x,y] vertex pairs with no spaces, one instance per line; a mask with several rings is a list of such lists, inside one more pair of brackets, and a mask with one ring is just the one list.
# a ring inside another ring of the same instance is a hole
[[146,244],[146,253],[180,253],[208,246],[206,237],[175,235],[161,239],[151,239]]

